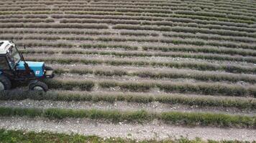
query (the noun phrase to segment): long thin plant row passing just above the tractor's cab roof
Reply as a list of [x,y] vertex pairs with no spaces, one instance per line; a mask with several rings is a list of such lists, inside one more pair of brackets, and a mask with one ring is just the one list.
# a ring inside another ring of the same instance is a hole
[[58,39],[65,39],[65,40],[78,40],[78,41],[138,41],[138,42],[160,42],[160,43],[168,43],[168,44],[191,44],[196,46],[224,46],[230,48],[242,48],[242,49],[256,49],[254,44],[237,44],[234,42],[220,42],[220,41],[206,41],[202,39],[155,39],[155,38],[144,38],[144,37],[118,37],[118,36],[98,36],[98,37],[91,37],[91,36],[45,36],[45,35],[38,35],[38,36],[12,36],[12,35],[4,35],[1,36],[1,39],[33,39],[33,40],[58,40]]

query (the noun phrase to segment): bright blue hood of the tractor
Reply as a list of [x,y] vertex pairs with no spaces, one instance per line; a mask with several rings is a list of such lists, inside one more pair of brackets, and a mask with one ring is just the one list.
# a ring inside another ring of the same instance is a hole
[[[44,70],[45,70],[45,63],[44,62],[35,62],[35,61],[26,61],[29,66],[29,69],[34,71],[35,77],[43,77]],[[19,61],[17,64],[18,70],[25,70],[24,61]]]

